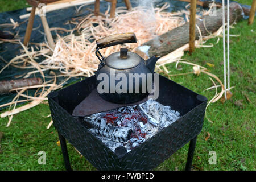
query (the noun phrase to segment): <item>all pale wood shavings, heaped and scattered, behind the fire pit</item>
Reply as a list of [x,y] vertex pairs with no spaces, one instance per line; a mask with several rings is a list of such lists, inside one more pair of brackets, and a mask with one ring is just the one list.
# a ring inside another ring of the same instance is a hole
[[[139,45],[143,44],[144,42],[147,42],[148,40],[154,38],[155,36],[164,34],[167,31],[170,31],[176,27],[181,26],[185,23],[185,20],[180,16],[185,14],[186,20],[188,21],[188,15],[189,11],[182,10],[177,13],[170,13],[170,12],[164,12],[165,9],[168,8],[167,3],[160,7],[155,9],[146,9],[145,7],[135,7],[131,11],[127,11],[125,7],[118,7],[114,19],[108,18],[109,9],[105,12],[104,17],[102,16],[94,16],[93,14],[89,14],[86,16],[80,23],[77,23],[77,26],[74,30],[65,30],[65,28],[57,28],[61,29],[67,32],[71,32],[70,35],[65,36],[61,38],[58,36],[55,50],[52,50],[49,48],[47,42],[46,43],[40,43],[35,44],[35,47],[37,51],[33,49],[33,47],[26,48],[24,45],[20,42],[20,40],[17,40],[17,42],[22,45],[24,49],[24,53],[22,55],[14,57],[9,62],[5,61],[6,66],[3,67],[0,70],[0,73],[8,67],[9,65],[21,68],[21,69],[27,69],[27,68],[36,68],[36,71],[31,71],[26,73],[26,75],[20,75],[20,77],[28,78],[30,75],[40,72],[43,77],[43,84],[36,86],[38,90],[35,93],[34,97],[26,96],[25,94],[22,94],[26,92],[29,88],[18,88],[16,89],[16,92],[18,93],[17,96],[13,99],[12,102],[9,102],[7,104],[1,105],[3,106],[9,106],[9,110],[2,113],[0,116],[3,117],[9,117],[9,122],[7,123],[7,127],[10,125],[11,120],[13,119],[13,115],[20,113],[24,110],[30,109],[31,107],[34,107],[40,103],[43,103],[43,101],[47,100],[47,95],[52,90],[56,90],[61,88],[67,80],[71,77],[76,76],[86,76],[90,77],[94,75],[94,72],[97,71],[98,64],[100,61],[97,59],[94,52],[96,51],[96,40],[100,38],[104,38],[105,36],[117,34],[117,33],[123,33],[123,32],[135,32],[138,42],[132,43],[132,44],[125,44],[125,45],[117,45],[108,47],[105,49],[102,49],[102,55],[108,56],[110,53],[114,53],[119,51],[119,48],[125,46],[129,48],[130,51],[134,51],[135,48],[137,48]],[[208,11],[203,11],[203,15],[208,14]],[[143,19],[142,17],[146,17],[146,19]],[[73,31],[77,30],[81,35],[75,36],[72,34]],[[221,30],[221,28],[220,28]],[[203,40],[208,40],[213,37],[218,37],[220,34],[220,30],[217,31],[215,34],[210,35],[205,38],[201,38],[199,41],[196,41],[196,47],[205,47],[202,44],[205,42]],[[4,40],[3,42],[9,42],[9,40]],[[212,47],[213,45],[210,45]],[[209,46],[206,46],[209,47]],[[180,73],[177,75],[168,75],[169,71],[164,66],[168,63],[184,63],[184,64],[192,64],[188,63],[187,61],[181,61],[181,57],[184,54],[184,51],[187,50],[188,44],[185,44],[183,47],[177,49],[174,52],[169,53],[166,56],[163,56],[159,59],[159,63],[156,66],[156,69],[158,69],[159,73],[164,72],[167,73],[166,75],[168,77],[170,76],[178,76],[178,75],[187,75],[187,73]],[[53,51],[53,54],[51,55],[51,52]],[[39,56],[46,57],[46,60],[38,63],[35,60],[38,59]],[[1,58],[1,57],[0,57]],[[23,65],[20,65],[23,64]],[[220,93],[217,94],[208,102],[208,105],[211,102],[216,102],[223,94],[224,92],[224,86],[222,85],[222,82],[220,79],[218,79],[215,75],[208,73],[206,71],[206,68],[200,67],[199,65],[193,64],[194,67],[199,69],[197,72],[203,72],[209,75],[210,77],[215,78],[220,85],[216,85],[212,88],[208,89],[217,89],[217,86],[221,86],[222,90]],[[163,67],[163,70],[160,69],[160,66]],[[193,67],[193,69],[194,69]],[[201,69],[200,69],[201,68]],[[55,75],[55,73],[51,72],[53,76],[44,76],[44,71],[47,70],[59,70],[62,74],[61,75]],[[201,71],[200,71],[201,70]],[[190,72],[189,72],[190,73]],[[191,72],[191,73],[195,73]],[[197,74],[197,73],[195,73]],[[56,84],[56,77],[67,77],[64,81],[62,81],[59,84]],[[44,78],[52,78],[49,81],[45,81]],[[18,78],[18,77],[17,77]],[[211,79],[211,78],[210,78]],[[213,81],[213,80],[211,80]],[[48,89],[45,89],[48,88]],[[40,90],[39,90],[40,89]],[[26,96],[27,100],[19,100],[19,96]],[[32,101],[28,104],[22,106],[22,107],[16,107],[16,104],[18,102],[23,101]],[[14,105],[14,106],[13,106]],[[208,106],[207,105],[207,106]],[[206,113],[205,113],[206,115]],[[47,117],[50,117],[48,115]],[[209,119],[208,119],[209,120]],[[52,121],[48,125],[49,127],[52,125]]]

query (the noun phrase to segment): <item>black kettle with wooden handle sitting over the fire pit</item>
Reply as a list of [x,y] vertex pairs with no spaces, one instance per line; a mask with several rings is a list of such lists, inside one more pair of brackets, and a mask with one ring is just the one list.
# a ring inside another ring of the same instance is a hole
[[96,56],[101,61],[96,73],[97,92],[104,100],[131,104],[143,100],[152,92],[154,69],[158,56],[148,60],[121,48],[103,57],[100,49],[124,43],[136,43],[134,33],[114,34],[96,41]]

